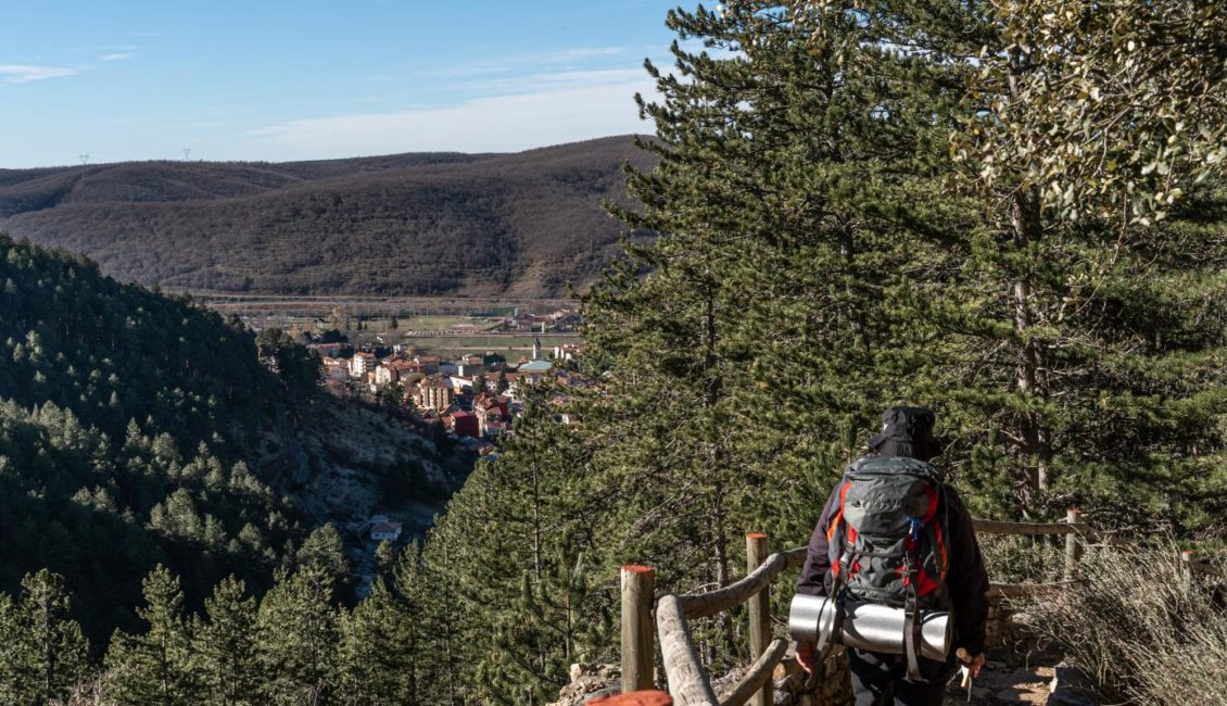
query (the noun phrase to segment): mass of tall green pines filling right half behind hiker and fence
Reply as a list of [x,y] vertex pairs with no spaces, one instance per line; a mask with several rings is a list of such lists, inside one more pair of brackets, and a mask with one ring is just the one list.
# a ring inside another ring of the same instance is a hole
[[[1218,36],[1206,2],[1134,5],[1099,16],[1040,0],[733,0],[670,12],[682,41],[672,74],[648,63],[659,98],[640,99],[656,166],[628,169],[637,208],[611,206],[656,239],[628,238],[584,297],[599,384],[568,393],[583,424],[518,429],[425,550],[456,593],[444,604],[477,667],[467,692],[533,702],[562,681],[566,656],[609,651],[609,637],[572,643],[557,626],[568,600],[598,624],[620,564],[656,566],[658,591],[693,591],[736,580],[746,530],[801,544],[891,404],[937,410],[939,463],[977,514],[1080,506],[1109,526],[1222,533],[1222,182],[1175,187],[1163,220],[1158,198],[1142,198],[1148,223],[1123,195],[1158,172],[1141,174],[1155,135],[1177,135],[1162,146],[1166,183],[1214,176],[1216,128],[1194,135],[1169,113],[1220,109],[1221,70],[1198,64],[1218,55]],[[1107,49],[1112,22],[1191,42],[1147,44],[1135,87]],[[1020,52],[1033,61],[1010,83],[1001,66]],[[1164,56],[1187,81],[1158,79]],[[1117,79],[1093,109],[1060,97]],[[1191,107],[1194,95],[1210,103]],[[1093,128],[1109,114],[1119,129]],[[1077,115],[1092,129],[1071,125]],[[1044,149],[1023,158],[1032,136]],[[1104,187],[1104,150],[1137,140],[1139,178]],[[1076,220],[1050,196],[1070,180],[1087,204]],[[519,435],[539,444],[518,447]],[[553,480],[555,467],[571,470]],[[542,479],[551,490],[537,497]],[[1021,573],[1009,553],[1000,565]],[[471,647],[486,630],[496,648]],[[728,616],[694,637],[713,670],[744,645]]]

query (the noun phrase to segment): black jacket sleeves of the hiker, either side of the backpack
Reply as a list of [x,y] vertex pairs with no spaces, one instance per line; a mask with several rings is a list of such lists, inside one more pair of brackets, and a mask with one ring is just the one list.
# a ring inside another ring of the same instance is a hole
[[[796,580],[796,592],[810,595],[827,595],[832,587],[831,559],[827,554],[827,530],[831,518],[839,506],[839,485],[831,492]],[[980,557],[980,546],[975,541],[972,517],[960,500],[953,487],[946,486],[944,497],[937,505],[937,517],[946,526],[950,541],[950,567],[946,572],[946,588],[955,613],[955,648],[963,647],[971,654],[984,651],[984,623],[989,614],[985,593],[989,589],[988,572]]]

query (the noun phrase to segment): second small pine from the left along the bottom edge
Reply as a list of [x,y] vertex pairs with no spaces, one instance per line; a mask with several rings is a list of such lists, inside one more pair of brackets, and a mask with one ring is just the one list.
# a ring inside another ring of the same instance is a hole
[[107,653],[107,688],[117,704],[169,706],[194,695],[191,635],[179,580],[158,565],[144,582],[148,625],[142,635],[115,634]]

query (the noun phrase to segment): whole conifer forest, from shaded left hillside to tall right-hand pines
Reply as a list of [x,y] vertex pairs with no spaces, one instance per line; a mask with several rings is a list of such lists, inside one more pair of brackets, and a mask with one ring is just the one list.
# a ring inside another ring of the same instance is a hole
[[[313,354],[0,239],[0,704],[542,706],[617,663],[620,566],[693,592],[748,530],[804,545],[897,404],[935,410],[975,517],[1227,546],[1218,2],[666,22],[582,295],[595,383],[528,393],[369,589],[253,460],[319,404]],[[742,623],[696,626],[713,673]]]

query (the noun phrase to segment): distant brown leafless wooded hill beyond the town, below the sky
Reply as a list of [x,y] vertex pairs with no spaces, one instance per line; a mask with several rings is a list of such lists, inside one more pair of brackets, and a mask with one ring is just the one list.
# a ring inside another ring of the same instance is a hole
[[618,252],[628,135],[513,155],[0,169],[0,230],[125,281],[258,292],[560,296]]

